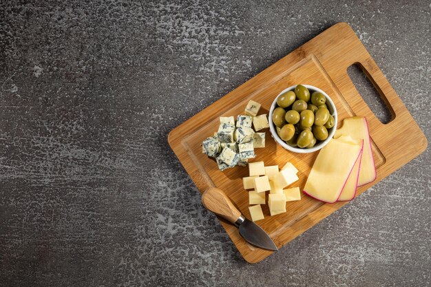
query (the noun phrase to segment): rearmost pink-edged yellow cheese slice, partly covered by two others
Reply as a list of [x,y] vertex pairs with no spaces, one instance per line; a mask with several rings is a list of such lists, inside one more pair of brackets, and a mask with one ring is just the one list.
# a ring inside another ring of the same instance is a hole
[[361,156],[361,168],[359,169],[357,185],[360,187],[374,181],[377,173],[372,156],[370,132],[366,118],[359,116],[345,118],[343,125],[335,131],[334,138],[339,138],[340,136],[351,136],[357,140],[364,140],[364,151]]

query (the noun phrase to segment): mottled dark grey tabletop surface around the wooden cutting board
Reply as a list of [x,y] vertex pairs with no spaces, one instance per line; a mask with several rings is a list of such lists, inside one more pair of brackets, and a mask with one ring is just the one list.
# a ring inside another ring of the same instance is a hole
[[251,265],[167,144],[340,21],[430,140],[430,1],[355,2],[0,1],[0,286],[430,286],[429,149]]

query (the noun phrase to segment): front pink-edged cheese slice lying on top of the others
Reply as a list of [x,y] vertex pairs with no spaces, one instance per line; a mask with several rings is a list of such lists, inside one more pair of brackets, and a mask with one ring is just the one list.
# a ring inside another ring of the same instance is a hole
[[323,202],[336,202],[361,155],[362,145],[362,140],[352,138],[330,140],[317,155],[304,193]]

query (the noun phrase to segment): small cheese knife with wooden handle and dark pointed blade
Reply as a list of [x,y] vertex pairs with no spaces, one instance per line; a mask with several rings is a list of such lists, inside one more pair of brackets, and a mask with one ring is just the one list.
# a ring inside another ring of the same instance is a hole
[[221,189],[210,187],[204,191],[202,204],[209,211],[235,224],[240,229],[240,235],[250,244],[271,251],[278,251],[271,237],[260,226],[246,219]]

